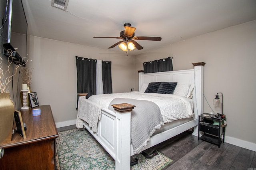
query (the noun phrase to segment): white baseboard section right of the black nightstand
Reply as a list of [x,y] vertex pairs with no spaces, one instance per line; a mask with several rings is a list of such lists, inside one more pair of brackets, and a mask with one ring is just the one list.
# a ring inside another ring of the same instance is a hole
[[241,140],[238,138],[233,138],[230,136],[225,136],[225,143],[226,142],[256,152],[256,143],[248,142],[246,140]]

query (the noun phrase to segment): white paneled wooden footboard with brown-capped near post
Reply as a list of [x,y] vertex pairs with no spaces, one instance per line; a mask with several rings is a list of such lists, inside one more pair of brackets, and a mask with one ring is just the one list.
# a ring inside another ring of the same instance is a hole
[[115,112],[108,109],[101,110],[98,121],[98,134],[93,132],[88,124],[84,127],[104,147],[116,161],[116,170],[130,169],[130,139],[131,139],[131,111],[134,105],[121,103],[112,105]]

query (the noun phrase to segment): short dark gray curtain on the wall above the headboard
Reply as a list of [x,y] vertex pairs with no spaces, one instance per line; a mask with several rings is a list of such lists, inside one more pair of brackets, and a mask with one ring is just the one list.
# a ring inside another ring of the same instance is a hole
[[144,73],[156,73],[163,71],[173,71],[172,57],[148,61],[143,63]]

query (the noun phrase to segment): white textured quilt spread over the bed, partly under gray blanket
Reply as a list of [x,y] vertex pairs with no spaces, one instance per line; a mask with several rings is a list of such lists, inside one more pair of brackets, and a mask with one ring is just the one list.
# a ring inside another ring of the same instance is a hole
[[134,91],[131,93],[92,95],[88,98],[88,100],[108,109],[110,102],[115,98],[148,100],[156,103],[161,111],[164,123],[170,123],[178,119],[193,117],[192,99],[188,99],[178,95],[142,93]]

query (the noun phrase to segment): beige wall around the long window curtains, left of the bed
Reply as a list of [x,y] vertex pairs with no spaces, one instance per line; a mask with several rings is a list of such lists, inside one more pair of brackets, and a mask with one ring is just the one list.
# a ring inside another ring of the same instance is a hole
[[134,87],[134,56],[74,43],[29,37],[32,91],[40,105],[51,105],[56,123],[76,119],[75,56],[112,61],[113,93]]

